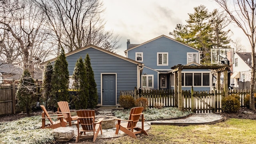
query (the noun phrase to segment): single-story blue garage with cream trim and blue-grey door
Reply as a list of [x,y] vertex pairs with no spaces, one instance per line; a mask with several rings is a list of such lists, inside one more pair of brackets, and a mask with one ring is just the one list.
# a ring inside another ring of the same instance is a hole
[[[86,54],[90,56],[94,71],[98,106],[119,106],[120,90],[134,90],[135,87],[140,86],[140,75],[144,64],[93,45],[66,54],[70,82],[72,82],[71,77],[78,58],[82,56],[84,59]],[[54,62],[56,59],[54,58],[50,62]],[[47,63],[43,62],[41,65],[46,66]]]

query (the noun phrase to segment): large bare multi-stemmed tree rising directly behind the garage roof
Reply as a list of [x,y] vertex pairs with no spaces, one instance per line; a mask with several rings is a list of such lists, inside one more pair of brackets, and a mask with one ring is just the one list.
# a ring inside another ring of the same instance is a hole
[[99,0],[36,0],[36,4],[45,12],[59,48],[68,52],[89,44],[102,48],[107,44],[112,52],[120,48],[118,36],[104,30]]

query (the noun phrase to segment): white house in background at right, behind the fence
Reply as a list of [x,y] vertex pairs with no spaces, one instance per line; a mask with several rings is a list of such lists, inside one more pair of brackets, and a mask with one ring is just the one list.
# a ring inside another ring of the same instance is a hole
[[234,54],[233,73],[230,76],[230,84],[234,84],[234,87],[238,87],[238,81],[250,81],[251,67],[251,52],[236,52]]

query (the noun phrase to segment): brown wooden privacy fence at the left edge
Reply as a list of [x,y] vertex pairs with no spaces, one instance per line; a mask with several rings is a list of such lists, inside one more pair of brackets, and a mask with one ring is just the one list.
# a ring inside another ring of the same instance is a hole
[[16,91],[12,86],[0,87],[0,115],[15,114]]

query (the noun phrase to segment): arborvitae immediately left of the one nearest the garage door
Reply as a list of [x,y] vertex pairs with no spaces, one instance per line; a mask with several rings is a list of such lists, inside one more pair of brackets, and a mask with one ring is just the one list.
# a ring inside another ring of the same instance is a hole
[[76,96],[74,99],[74,104],[76,109],[86,109],[88,106],[88,79],[86,74],[86,68],[82,58],[80,57],[74,68],[73,73],[73,86],[76,90]]

